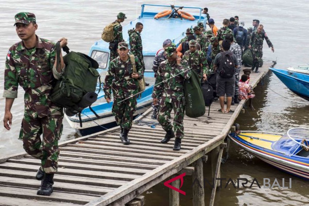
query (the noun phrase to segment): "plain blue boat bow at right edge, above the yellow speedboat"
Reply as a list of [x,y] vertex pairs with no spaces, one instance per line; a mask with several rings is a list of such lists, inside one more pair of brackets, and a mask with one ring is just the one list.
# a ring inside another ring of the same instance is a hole
[[283,69],[270,69],[291,91],[309,101],[309,74]]

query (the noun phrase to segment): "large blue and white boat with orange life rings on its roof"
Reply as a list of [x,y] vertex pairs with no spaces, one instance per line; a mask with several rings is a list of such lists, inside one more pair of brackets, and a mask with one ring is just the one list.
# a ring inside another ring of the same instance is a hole
[[[173,43],[178,44],[179,41],[184,38],[185,31],[188,27],[194,27],[199,22],[203,22],[204,25],[207,21],[206,15],[202,14],[202,8],[199,7],[183,7],[181,11],[189,11],[193,15],[194,20],[188,20],[183,18],[168,18],[163,17],[155,19],[155,15],[163,10],[170,9],[175,11],[181,6],[164,6],[164,5],[152,5],[143,4],[141,15],[129,22],[122,27],[123,38],[129,43],[128,30],[135,27],[137,22],[141,22],[144,25],[144,30],[141,33],[142,44],[143,44],[143,56],[145,62],[145,81],[150,83],[150,86],[146,87],[142,93],[141,99],[137,100],[137,111],[135,116],[146,111],[146,107],[152,103],[152,90],[155,83],[154,72],[152,71],[152,64],[155,55],[159,50],[162,50],[163,41],[171,39]],[[180,10],[179,10],[180,11]],[[193,11],[193,13],[191,13]],[[196,12],[196,13],[194,13]],[[175,17],[175,16],[174,16]],[[96,41],[90,51],[89,56],[95,59],[99,63],[99,73],[101,80],[104,81],[105,74],[108,70],[109,65],[109,44],[103,40]],[[104,92],[99,90],[100,84],[98,83],[98,99],[92,104],[92,109],[98,114],[99,117],[95,116],[94,113],[86,108],[81,113],[81,122],[78,116],[66,117],[72,128],[75,128],[81,135],[87,135],[94,132],[102,131],[105,128],[115,126],[115,118],[112,115],[112,103],[106,103],[104,99]]]

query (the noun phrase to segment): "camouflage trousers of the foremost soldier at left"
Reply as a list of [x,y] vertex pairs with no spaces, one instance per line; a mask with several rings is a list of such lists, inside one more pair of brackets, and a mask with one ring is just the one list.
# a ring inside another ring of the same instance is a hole
[[23,148],[32,157],[41,160],[41,170],[47,174],[57,172],[62,120],[63,112],[57,110],[42,118],[25,114],[21,123],[19,139],[23,140]]

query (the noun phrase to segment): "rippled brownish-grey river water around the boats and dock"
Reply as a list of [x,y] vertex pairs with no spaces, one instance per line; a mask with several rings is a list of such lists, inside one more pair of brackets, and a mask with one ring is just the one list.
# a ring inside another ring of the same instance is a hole
[[[104,26],[115,20],[118,12],[124,12],[129,23],[135,19],[141,10],[142,3],[173,4],[178,6],[208,7],[210,17],[217,27],[224,18],[238,15],[245,22],[245,28],[252,26],[252,19],[259,19],[264,25],[270,40],[274,44],[275,53],[264,44],[264,59],[277,60],[277,68],[287,68],[290,65],[309,63],[308,18],[309,4],[307,0],[295,0],[283,3],[273,1],[242,1],[223,0],[211,1],[0,1],[1,33],[0,33],[0,119],[3,119],[5,99],[2,98],[5,57],[8,48],[19,41],[15,33],[14,15],[21,11],[33,12],[37,18],[36,34],[42,38],[57,41],[61,37],[69,40],[72,51],[88,53],[91,45],[100,38]],[[144,27],[145,29],[149,29]],[[22,142],[18,140],[20,123],[23,117],[23,90],[19,88],[18,98],[12,107],[13,122],[10,131],[0,126],[0,156],[23,152]],[[281,83],[274,74],[269,74],[256,89],[253,101],[256,111],[246,110],[240,114],[236,122],[242,130],[262,130],[284,132],[291,127],[309,127],[309,103],[294,95]],[[64,121],[64,131],[61,141],[78,137],[68,123]],[[263,185],[263,178],[271,182],[277,178],[282,186],[282,178],[288,185],[291,178],[292,188],[273,189],[237,188],[231,186],[222,188],[216,194],[215,205],[309,205],[309,183],[294,176],[281,172],[257,158],[249,155],[233,143],[230,145],[229,159],[222,164],[221,176],[237,181],[237,178],[247,178],[251,183],[256,178]],[[205,179],[211,181],[210,161],[204,164]],[[223,182],[225,186],[226,182]],[[185,177],[182,190],[187,194],[180,195],[180,205],[192,205],[192,179]],[[236,185],[237,186],[237,185]],[[209,202],[211,187],[205,186],[205,202]],[[168,205],[168,188],[163,183],[145,192],[146,205]]]

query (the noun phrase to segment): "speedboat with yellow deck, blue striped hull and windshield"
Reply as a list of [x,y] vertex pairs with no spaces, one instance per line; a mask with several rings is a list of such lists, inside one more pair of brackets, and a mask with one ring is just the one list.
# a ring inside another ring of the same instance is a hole
[[309,180],[309,128],[291,128],[285,134],[238,131],[229,137],[256,158]]

